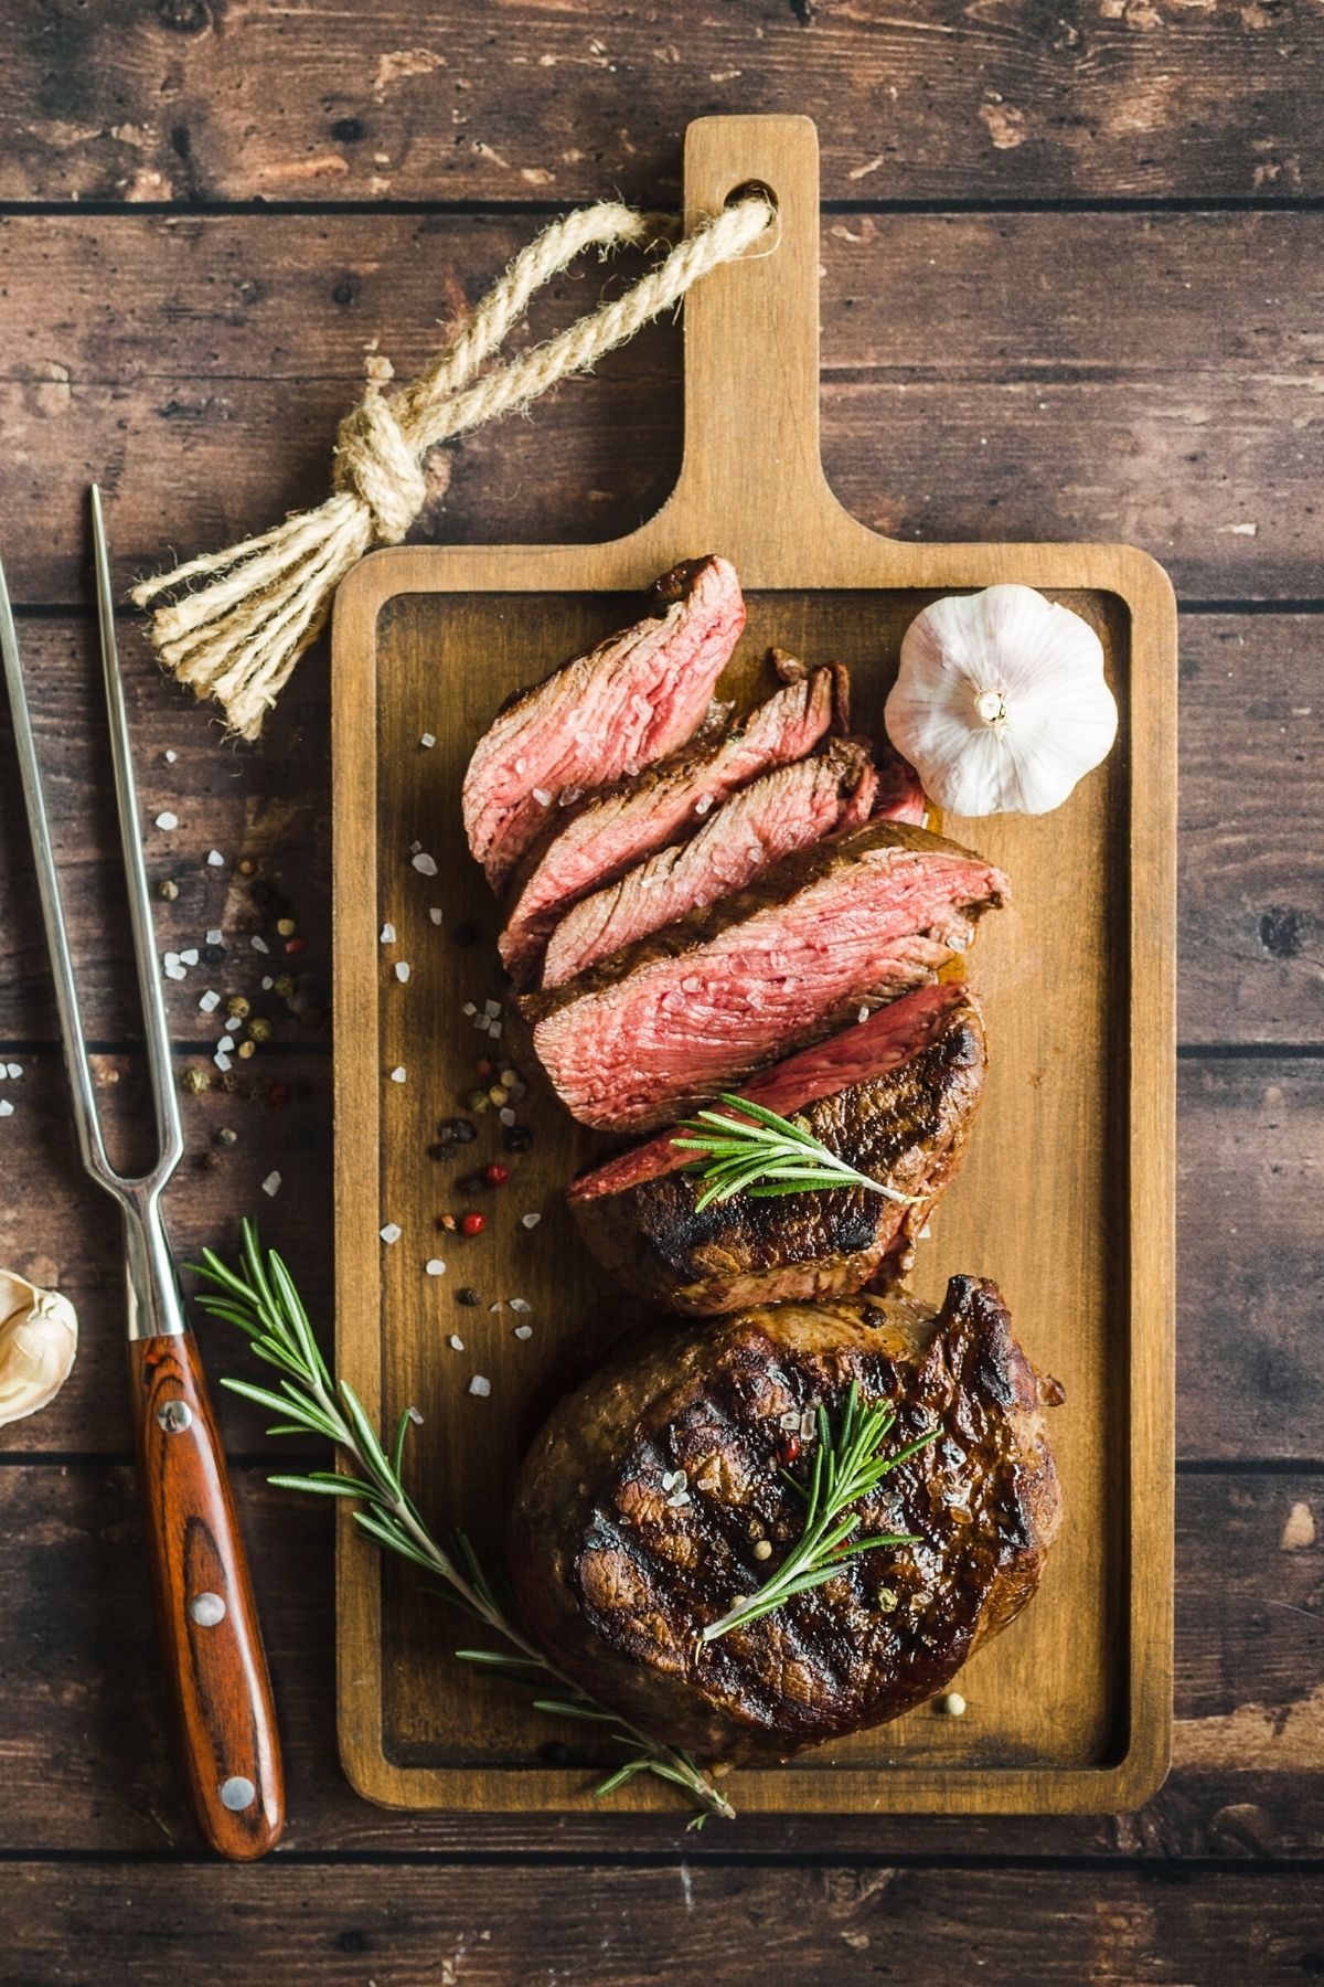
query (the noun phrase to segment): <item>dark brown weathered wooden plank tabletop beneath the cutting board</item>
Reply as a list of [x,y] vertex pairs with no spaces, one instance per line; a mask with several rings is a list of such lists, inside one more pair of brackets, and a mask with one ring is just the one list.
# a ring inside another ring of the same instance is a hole
[[[316,501],[365,346],[411,372],[566,203],[675,203],[693,115],[820,119],[842,497],[897,535],[1129,538],[1183,608],[1177,1735],[1131,1816],[681,1836],[373,1810],[335,1762],[326,1514],[266,1488],[278,1445],[228,1403],[290,1828],[258,1868],[202,1856],[159,1721],[115,1218],[73,1156],[0,743],[0,1057],[22,1065],[0,1083],[0,1262],[60,1282],[83,1321],[58,1405],[0,1445],[0,1977],[1324,1973],[1318,0],[0,0],[0,546],[129,1141],[83,485],[109,495],[125,584]],[[601,282],[568,276],[536,330]],[[665,495],[679,413],[659,328],[447,453],[421,529],[613,536]],[[288,894],[326,997],[326,662],[250,751],[157,676],[131,618],[123,644],[147,815],[181,821],[151,835],[153,874],[179,882],[161,944],[238,934],[169,990],[181,1073],[206,1069],[200,988],[252,994],[260,968],[242,860]],[[260,1097],[185,1099],[177,1240],[224,1244],[260,1206],[330,1323],[326,1023],[278,1019],[236,1067]],[[206,1351],[234,1363],[210,1333]]]

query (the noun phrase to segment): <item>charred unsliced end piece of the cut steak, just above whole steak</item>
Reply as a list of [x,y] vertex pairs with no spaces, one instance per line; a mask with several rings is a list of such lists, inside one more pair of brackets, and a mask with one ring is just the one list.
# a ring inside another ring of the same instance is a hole
[[915,1236],[965,1152],[987,1065],[979,1003],[961,982],[919,988],[820,1047],[802,1049],[740,1095],[796,1117],[830,1152],[883,1186],[697,1210],[693,1152],[677,1127],[580,1174],[570,1204],[584,1240],[625,1290],[709,1317],[782,1298],[852,1298],[897,1284]]

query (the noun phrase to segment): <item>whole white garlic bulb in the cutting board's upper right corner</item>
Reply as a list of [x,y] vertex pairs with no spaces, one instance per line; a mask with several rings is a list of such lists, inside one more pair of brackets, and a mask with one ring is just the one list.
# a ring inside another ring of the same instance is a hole
[[955,815],[1046,815],[1116,735],[1100,638],[1032,586],[949,594],[905,630],[887,737]]

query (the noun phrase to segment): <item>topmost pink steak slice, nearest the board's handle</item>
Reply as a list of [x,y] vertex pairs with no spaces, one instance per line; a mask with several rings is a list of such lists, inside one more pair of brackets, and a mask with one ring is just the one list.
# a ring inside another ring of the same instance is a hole
[[734,566],[693,558],[663,572],[651,594],[655,616],[518,689],[478,739],[464,773],[464,833],[494,886],[566,787],[637,771],[703,719],[744,628]]

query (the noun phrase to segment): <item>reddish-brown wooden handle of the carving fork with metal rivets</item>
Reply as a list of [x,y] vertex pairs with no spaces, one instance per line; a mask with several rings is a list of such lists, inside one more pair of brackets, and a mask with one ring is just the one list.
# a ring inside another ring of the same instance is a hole
[[157,1635],[199,1826],[250,1862],[284,1830],[272,1685],[230,1478],[191,1331],[129,1341]]

